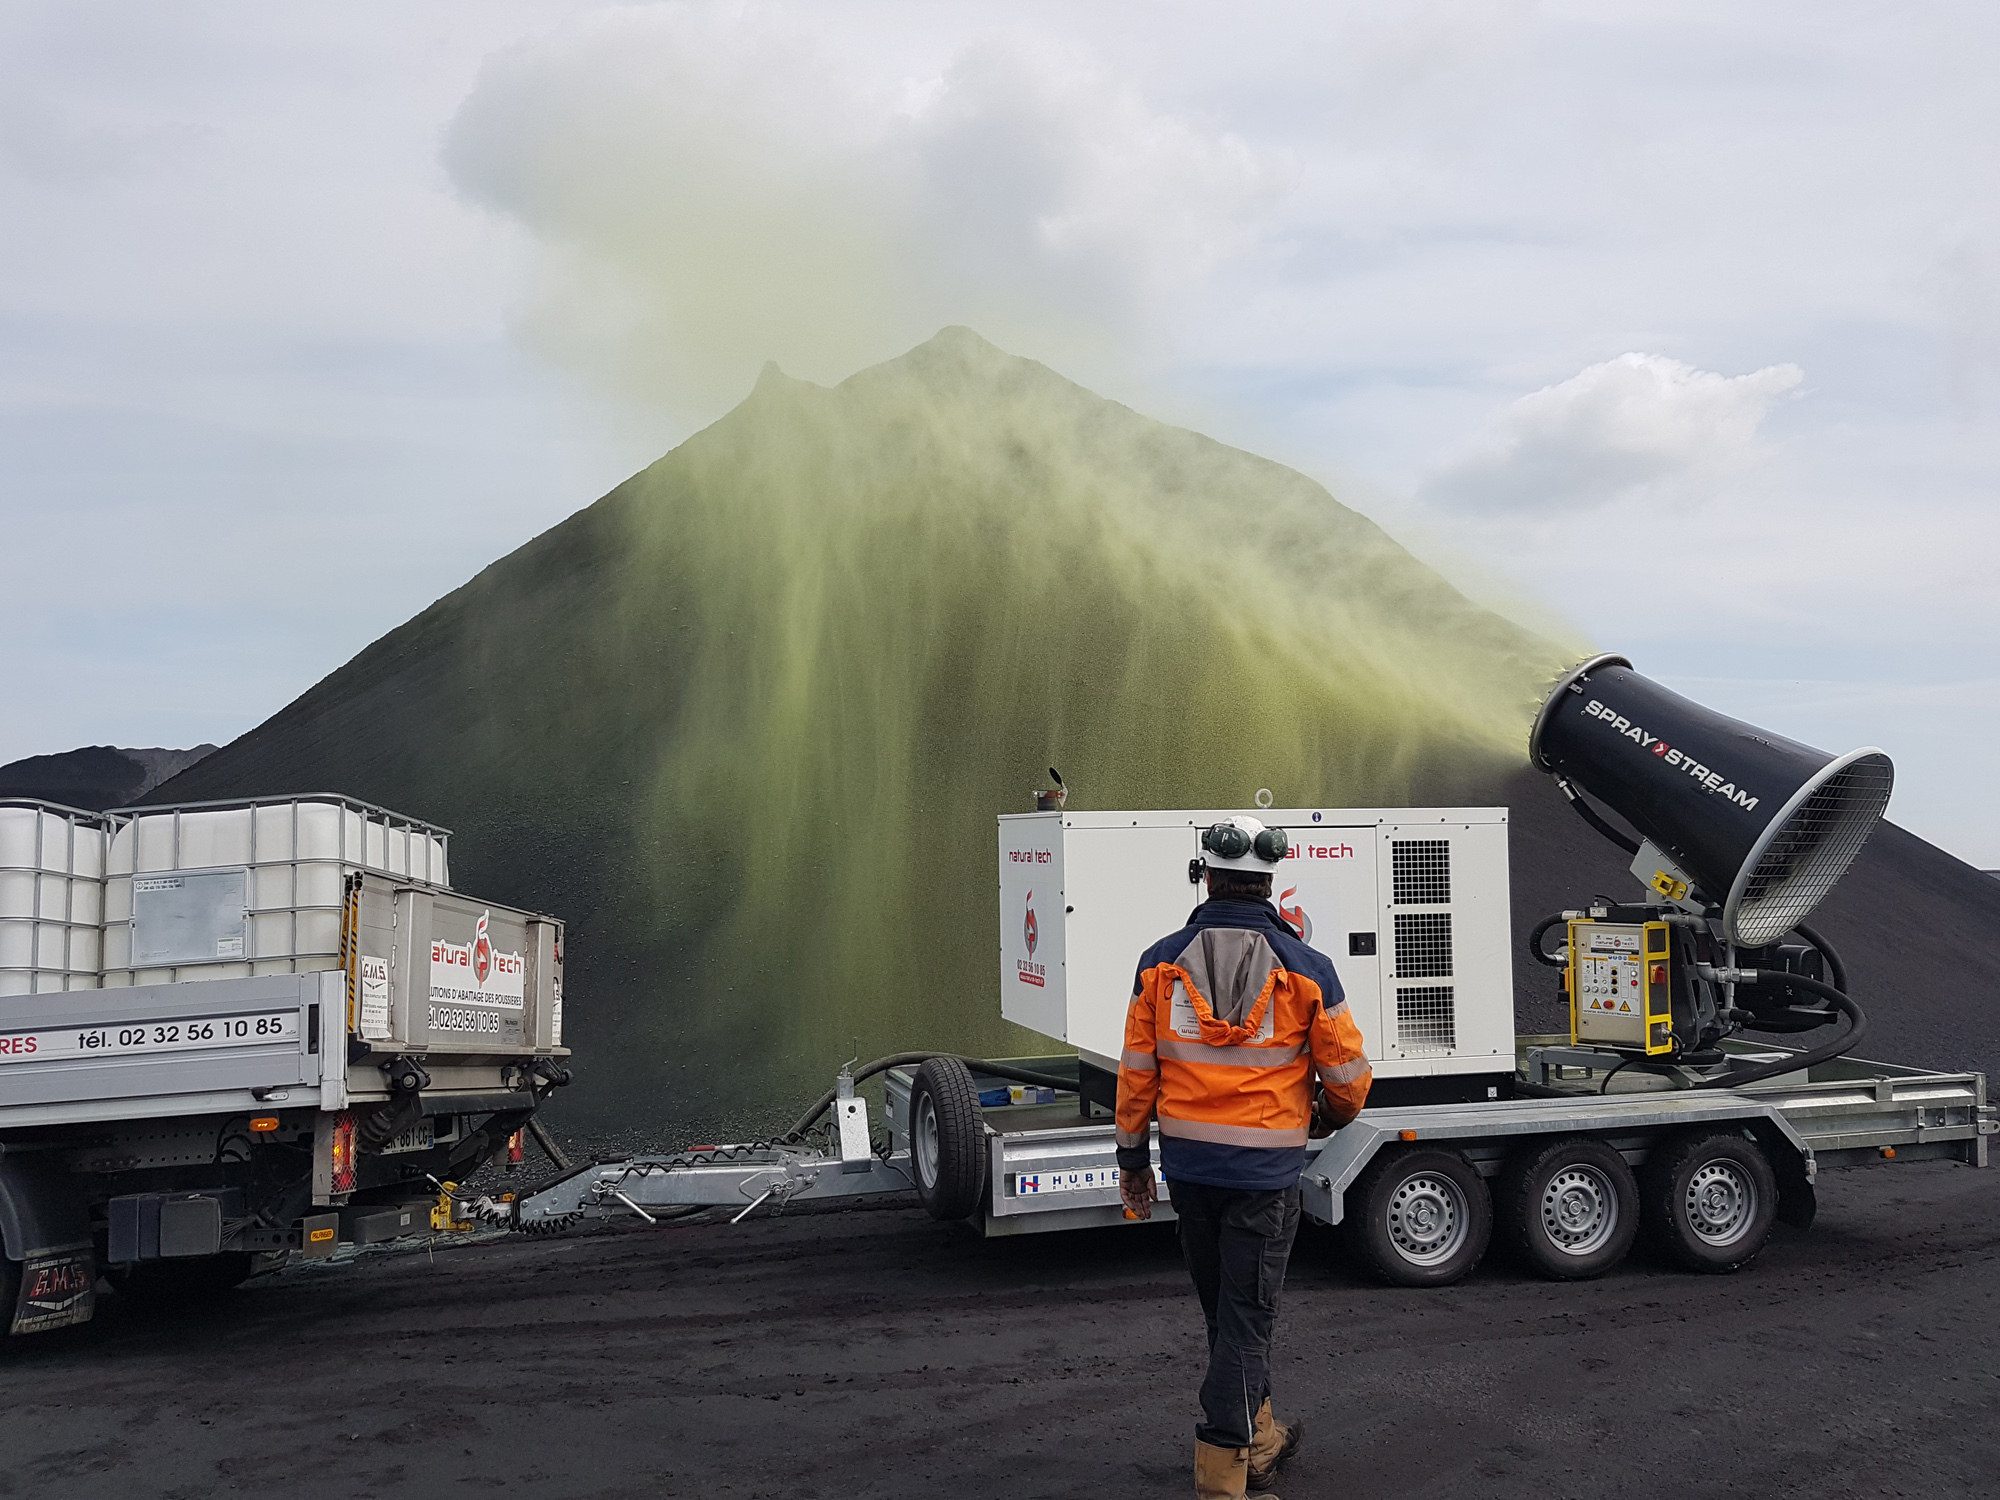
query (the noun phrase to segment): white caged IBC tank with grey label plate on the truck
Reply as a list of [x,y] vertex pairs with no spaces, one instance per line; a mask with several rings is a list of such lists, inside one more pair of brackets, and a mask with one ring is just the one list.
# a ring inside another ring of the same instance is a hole
[[[116,816],[104,896],[104,982],[112,986],[334,968],[350,874],[450,886],[446,830],[348,798]],[[240,896],[234,880],[220,878],[236,872]],[[172,876],[190,878],[174,888]],[[240,924],[224,910],[238,900]],[[164,962],[168,954],[174,962]]]

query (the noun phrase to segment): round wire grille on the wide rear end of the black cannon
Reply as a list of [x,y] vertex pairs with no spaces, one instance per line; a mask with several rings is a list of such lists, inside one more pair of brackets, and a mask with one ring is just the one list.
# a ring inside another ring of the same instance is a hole
[[1766,844],[1734,902],[1732,938],[1776,942],[1812,916],[1882,820],[1896,768],[1868,754],[1828,776]]

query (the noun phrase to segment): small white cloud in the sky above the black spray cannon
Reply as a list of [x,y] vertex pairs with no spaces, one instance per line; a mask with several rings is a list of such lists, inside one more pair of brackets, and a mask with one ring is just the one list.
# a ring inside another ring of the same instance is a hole
[[1516,400],[1424,494],[1452,506],[1570,510],[1734,474],[1760,456],[1772,402],[1804,378],[1796,364],[1724,376],[1620,354]]

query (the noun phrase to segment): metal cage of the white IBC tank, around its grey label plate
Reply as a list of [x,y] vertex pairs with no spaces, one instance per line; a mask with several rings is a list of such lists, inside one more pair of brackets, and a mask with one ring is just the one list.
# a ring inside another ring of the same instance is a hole
[[[116,808],[108,814],[104,978],[226,978],[328,968],[340,956],[344,880],[376,870],[450,888],[450,830],[340,792]],[[244,870],[240,958],[148,964],[134,952],[132,882]],[[184,972],[192,970],[192,974]]]

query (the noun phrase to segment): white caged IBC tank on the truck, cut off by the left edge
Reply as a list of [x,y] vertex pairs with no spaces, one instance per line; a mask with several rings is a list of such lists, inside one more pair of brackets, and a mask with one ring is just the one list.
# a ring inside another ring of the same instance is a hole
[[54,802],[0,802],[0,994],[98,988],[108,828]]

